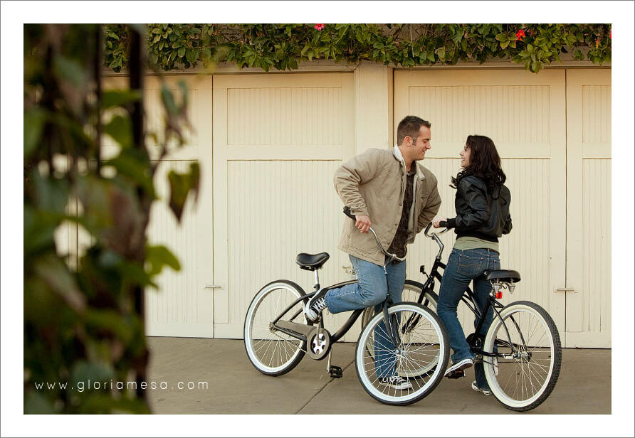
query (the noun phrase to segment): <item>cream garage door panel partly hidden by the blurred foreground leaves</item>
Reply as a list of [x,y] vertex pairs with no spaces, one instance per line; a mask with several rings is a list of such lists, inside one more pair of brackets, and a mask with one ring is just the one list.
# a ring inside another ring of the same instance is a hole
[[[178,82],[188,86],[188,119],[191,130],[186,132],[185,144],[174,147],[172,153],[159,162],[154,177],[157,196],[150,211],[147,236],[150,245],[165,245],[179,258],[182,269],[174,272],[166,268],[157,278],[159,289],[145,291],[145,321],[148,336],[214,337],[214,301],[211,289],[212,233],[211,233],[211,77],[179,76],[164,79],[177,100],[181,96]],[[144,103],[149,132],[162,132],[164,114],[160,100],[159,78],[146,79]],[[148,139],[150,156],[157,156],[157,141]],[[181,223],[177,223],[167,208],[169,185],[167,173],[189,171],[194,161],[201,168],[199,202],[188,200]],[[157,163],[157,161],[154,161]]]

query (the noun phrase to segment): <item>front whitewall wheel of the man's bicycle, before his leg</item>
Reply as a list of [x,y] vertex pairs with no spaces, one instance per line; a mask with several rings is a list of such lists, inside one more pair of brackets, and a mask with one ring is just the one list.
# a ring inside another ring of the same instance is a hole
[[[357,341],[357,377],[375,400],[387,405],[409,405],[426,397],[443,378],[450,354],[446,329],[436,314],[420,304],[393,304],[388,314],[395,321],[399,342],[392,346],[383,312],[373,316]],[[368,344],[374,346],[372,352],[366,348]],[[409,389],[397,390],[381,382],[382,374],[416,375],[421,369],[429,372],[410,378]]]

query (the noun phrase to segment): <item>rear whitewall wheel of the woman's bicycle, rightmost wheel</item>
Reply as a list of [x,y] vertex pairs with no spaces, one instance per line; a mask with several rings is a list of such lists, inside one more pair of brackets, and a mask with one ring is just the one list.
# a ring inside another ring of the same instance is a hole
[[494,347],[503,353],[498,367],[484,356],[483,368],[498,401],[515,411],[531,410],[544,402],[555,387],[562,361],[560,335],[547,311],[530,301],[505,306],[500,319],[494,317],[483,351]]

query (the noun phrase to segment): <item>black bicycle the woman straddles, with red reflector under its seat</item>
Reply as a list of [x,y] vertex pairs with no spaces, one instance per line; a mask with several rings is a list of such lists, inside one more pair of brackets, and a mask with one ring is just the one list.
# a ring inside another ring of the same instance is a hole
[[[440,233],[429,233],[430,227],[431,224],[424,235],[439,245],[439,252],[430,274],[426,274],[424,266],[420,268],[427,278],[419,296],[410,294],[404,299],[436,309],[438,295],[434,287],[436,282],[441,282],[439,269],[446,267],[441,262],[444,244],[439,235],[446,233],[447,228]],[[538,304],[531,301],[515,301],[507,306],[500,304],[498,299],[502,298],[503,289],[512,294],[515,284],[520,282],[518,272],[498,269],[488,272],[486,278],[491,282],[492,290],[485,309],[479,308],[470,288],[461,299],[478,319],[474,333],[467,337],[468,344],[477,360],[483,362],[488,384],[496,399],[510,410],[532,410],[549,397],[560,375],[560,335],[551,316]],[[494,312],[493,322],[486,336],[476,335],[481,332],[490,307]],[[465,374],[456,373],[453,377],[461,375]]]

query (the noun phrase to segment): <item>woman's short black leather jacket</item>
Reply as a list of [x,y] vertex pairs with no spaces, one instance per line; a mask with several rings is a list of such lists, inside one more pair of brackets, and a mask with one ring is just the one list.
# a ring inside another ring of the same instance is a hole
[[486,183],[473,175],[463,176],[456,183],[456,218],[448,219],[456,237],[470,236],[490,242],[512,229],[509,214],[511,195],[505,185],[488,192]]

